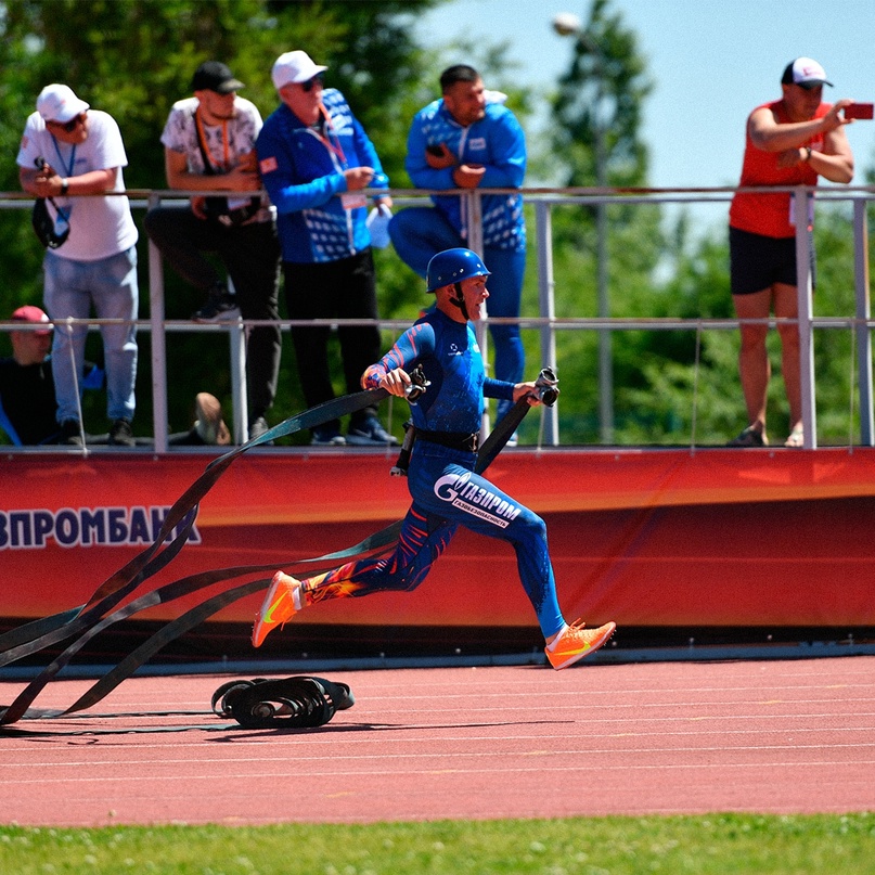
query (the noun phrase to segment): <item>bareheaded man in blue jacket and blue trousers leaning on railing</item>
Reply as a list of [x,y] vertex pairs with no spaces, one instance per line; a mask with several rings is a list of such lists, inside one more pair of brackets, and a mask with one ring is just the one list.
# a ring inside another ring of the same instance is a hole
[[[484,89],[474,67],[456,64],[440,77],[443,96],[413,118],[406,167],[420,189],[518,189],[526,173],[526,139],[504,95]],[[389,235],[401,259],[421,276],[429,259],[454,246],[468,246],[468,216],[459,195],[435,195],[432,207],[400,210]],[[491,273],[489,316],[519,316],[526,269],[523,196],[490,194],[482,198],[484,262]],[[516,325],[490,325],[494,376],[523,378],[524,352]],[[499,403],[499,417],[510,404]]]

